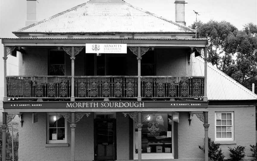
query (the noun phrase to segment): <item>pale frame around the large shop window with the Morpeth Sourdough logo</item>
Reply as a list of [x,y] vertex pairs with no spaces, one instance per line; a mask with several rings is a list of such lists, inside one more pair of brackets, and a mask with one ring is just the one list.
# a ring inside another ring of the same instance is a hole
[[[159,113],[166,113],[166,112],[159,112]],[[158,113],[156,113],[158,114]],[[155,114],[155,115],[156,115]],[[168,114],[172,115],[172,150],[171,153],[141,153],[142,159],[174,159],[174,121],[173,121],[173,112],[168,112]],[[136,141],[136,122],[133,121],[133,159],[138,160],[138,153],[136,153],[135,141]],[[141,143],[142,146],[142,143]]]

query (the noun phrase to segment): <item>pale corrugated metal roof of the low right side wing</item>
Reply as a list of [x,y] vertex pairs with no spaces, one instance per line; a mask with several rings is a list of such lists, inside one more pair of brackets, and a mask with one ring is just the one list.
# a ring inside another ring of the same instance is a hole
[[[192,57],[193,76],[204,75],[204,60]],[[257,95],[218,70],[211,63],[207,64],[208,100],[256,100]]]

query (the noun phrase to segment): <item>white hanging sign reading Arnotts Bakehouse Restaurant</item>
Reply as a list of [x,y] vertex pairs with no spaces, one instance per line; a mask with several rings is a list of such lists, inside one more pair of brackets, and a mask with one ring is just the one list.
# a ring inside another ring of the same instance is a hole
[[127,44],[86,44],[86,53],[127,53]]

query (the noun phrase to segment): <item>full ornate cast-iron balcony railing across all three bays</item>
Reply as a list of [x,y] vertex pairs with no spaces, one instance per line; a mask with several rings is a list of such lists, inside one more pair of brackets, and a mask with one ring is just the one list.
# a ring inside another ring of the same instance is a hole
[[[70,99],[71,76],[7,76],[8,99]],[[203,98],[204,77],[74,76],[75,99]],[[138,86],[140,85],[140,88]]]

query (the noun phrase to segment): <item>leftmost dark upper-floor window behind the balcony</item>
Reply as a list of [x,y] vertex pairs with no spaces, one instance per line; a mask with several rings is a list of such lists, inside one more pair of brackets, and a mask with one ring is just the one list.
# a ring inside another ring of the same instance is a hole
[[64,51],[50,51],[48,56],[48,74],[65,75]]

